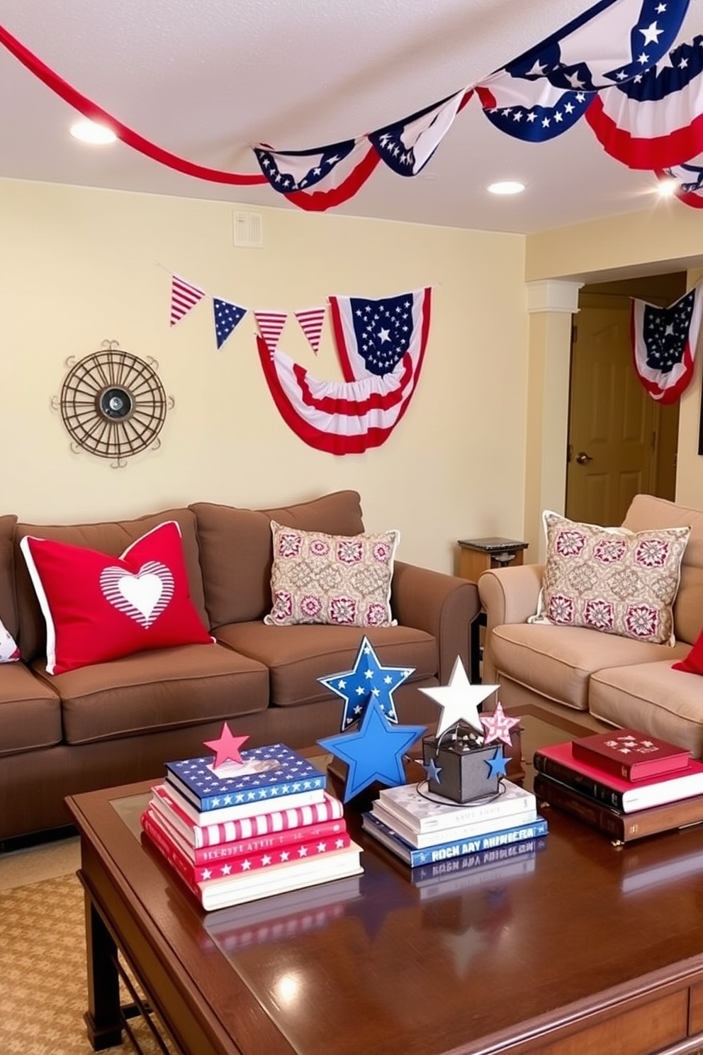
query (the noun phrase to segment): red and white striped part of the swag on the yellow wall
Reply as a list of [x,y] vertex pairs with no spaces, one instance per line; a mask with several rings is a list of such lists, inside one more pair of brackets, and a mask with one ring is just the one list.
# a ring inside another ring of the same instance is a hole
[[328,454],[362,454],[385,443],[401,421],[416,388],[425,358],[431,290],[406,296],[412,305],[410,318],[414,321],[408,349],[393,369],[383,375],[366,368],[366,361],[356,353],[352,338],[352,344],[345,345],[346,352],[337,349],[345,381],[314,378],[279,348],[271,351],[266,341],[257,338],[261,368],[274,403],[284,421],[304,443]]

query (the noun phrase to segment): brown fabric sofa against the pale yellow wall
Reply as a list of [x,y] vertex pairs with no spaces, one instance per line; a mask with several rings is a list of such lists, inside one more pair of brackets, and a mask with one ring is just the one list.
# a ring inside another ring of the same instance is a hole
[[[353,491],[287,509],[196,502],[93,524],[0,517],[0,618],[21,652],[21,663],[0,665],[0,843],[66,824],[66,794],[159,779],[164,762],[199,754],[226,720],[251,747],[300,747],[338,732],[343,702],[317,678],[351,667],[365,632],[380,663],[415,668],[394,694],[399,721],[436,718],[418,689],[446,684],[457,656],[468,669],[475,584],[396,561],[396,627],[268,627],[272,518],[335,535],[364,531]],[[37,535],[119,555],[164,520],[180,526],[191,597],[216,644],[48,675],[44,620],[19,540]]]

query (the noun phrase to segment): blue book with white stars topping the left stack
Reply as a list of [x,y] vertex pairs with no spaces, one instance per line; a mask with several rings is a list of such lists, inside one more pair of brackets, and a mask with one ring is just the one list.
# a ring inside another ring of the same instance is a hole
[[167,762],[167,782],[199,814],[233,821],[324,799],[326,774],[285,744],[252,747],[241,751],[241,762],[217,768],[214,762],[213,755]]

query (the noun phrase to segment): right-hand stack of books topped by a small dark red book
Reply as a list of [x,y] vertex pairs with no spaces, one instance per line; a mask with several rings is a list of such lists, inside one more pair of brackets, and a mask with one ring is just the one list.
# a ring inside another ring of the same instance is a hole
[[626,843],[703,821],[703,763],[636,729],[534,752],[534,792]]

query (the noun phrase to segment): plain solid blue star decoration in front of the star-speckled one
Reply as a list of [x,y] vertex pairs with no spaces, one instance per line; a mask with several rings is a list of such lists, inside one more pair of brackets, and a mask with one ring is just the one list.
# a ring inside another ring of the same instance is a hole
[[427,726],[391,725],[378,701],[372,696],[356,732],[338,733],[317,743],[349,766],[345,802],[379,781],[388,787],[405,784],[403,755]]

